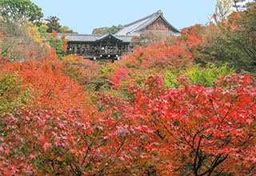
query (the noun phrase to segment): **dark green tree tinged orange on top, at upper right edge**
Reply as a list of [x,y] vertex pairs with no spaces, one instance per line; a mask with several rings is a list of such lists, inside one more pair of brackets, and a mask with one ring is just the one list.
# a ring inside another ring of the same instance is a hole
[[[235,16],[237,15],[237,16]],[[242,14],[233,14],[224,36],[214,42],[215,57],[237,70],[254,72],[256,66],[256,3]],[[231,21],[232,20],[232,21]]]

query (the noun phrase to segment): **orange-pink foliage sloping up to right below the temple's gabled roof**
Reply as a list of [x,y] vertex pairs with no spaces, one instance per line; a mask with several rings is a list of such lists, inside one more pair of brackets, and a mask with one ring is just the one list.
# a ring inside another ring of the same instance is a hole
[[198,46],[202,43],[202,37],[194,33],[186,34],[186,38],[186,41],[174,38],[172,45],[166,39],[146,48],[137,46],[133,53],[123,55],[122,60],[114,63],[107,75],[108,80],[115,88],[121,88],[122,82],[136,81],[138,74],[147,70],[157,70],[159,73],[167,69],[185,69],[194,62]]

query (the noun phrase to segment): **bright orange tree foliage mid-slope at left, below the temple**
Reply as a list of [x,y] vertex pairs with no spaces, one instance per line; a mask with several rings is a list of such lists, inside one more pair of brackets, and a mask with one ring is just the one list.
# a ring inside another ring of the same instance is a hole
[[37,109],[58,109],[79,107],[86,102],[83,87],[62,74],[64,64],[58,61],[54,50],[39,58],[39,62],[29,59],[26,62],[6,62],[2,71],[17,72],[24,84],[30,86],[34,97],[30,99]]

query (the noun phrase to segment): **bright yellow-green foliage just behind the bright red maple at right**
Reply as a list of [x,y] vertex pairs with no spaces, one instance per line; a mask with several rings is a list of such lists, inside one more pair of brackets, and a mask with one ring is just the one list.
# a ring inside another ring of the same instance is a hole
[[190,83],[193,85],[200,84],[206,87],[214,86],[214,82],[218,81],[219,77],[223,77],[229,74],[233,74],[234,70],[230,69],[227,64],[217,67],[214,64],[208,64],[206,68],[200,68],[199,66],[192,66],[188,70],[181,71],[180,73],[172,73],[166,71],[165,86],[178,87],[177,75],[185,74],[187,78],[190,78]]

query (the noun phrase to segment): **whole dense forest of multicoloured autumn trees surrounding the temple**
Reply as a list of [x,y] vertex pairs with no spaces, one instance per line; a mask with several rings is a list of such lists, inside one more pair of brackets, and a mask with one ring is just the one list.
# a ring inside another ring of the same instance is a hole
[[112,63],[63,55],[73,30],[0,0],[0,174],[255,175],[256,2],[241,2]]

